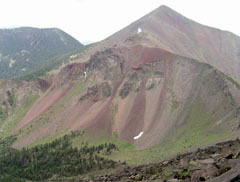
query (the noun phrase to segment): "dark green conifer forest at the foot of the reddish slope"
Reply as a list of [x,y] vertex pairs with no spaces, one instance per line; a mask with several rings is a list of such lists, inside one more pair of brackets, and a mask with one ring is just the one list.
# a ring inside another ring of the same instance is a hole
[[117,163],[104,158],[116,150],[115,144],[106,143],[73,148],[72,133],[51,143],[16,150],[11,148],[14,137],[0,140],[0,181],[45,180],[54,175],[77,176],[92,170],[114,168]]

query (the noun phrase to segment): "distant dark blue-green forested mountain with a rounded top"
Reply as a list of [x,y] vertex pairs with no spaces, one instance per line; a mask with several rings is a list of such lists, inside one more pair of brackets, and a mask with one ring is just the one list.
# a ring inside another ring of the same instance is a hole
[[38,71],[81,47],[81,43],[59,29],[1,29],[0,78],[17,78]]

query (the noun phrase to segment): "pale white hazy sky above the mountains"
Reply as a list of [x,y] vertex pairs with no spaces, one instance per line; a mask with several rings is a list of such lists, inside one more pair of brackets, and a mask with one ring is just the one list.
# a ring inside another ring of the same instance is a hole
[[102,40],[165,4],[240,35],[239,0],[0,0],[0,28],[57,27],[80,42]]

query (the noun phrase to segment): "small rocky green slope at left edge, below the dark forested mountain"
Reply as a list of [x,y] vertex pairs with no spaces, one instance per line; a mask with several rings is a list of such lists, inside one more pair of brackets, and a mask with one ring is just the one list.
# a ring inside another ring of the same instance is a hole
[[19,120],[42,94],[41,82],[0,80],[0,136],[11,135]]

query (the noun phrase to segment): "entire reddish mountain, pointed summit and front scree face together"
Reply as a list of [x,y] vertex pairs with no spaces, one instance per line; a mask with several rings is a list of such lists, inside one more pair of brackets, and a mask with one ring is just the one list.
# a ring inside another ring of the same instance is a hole
[[21,148],[84,130],[133,164],[235,138],[239,40],[160,7],[35,82],[39,98],[7,134]]

